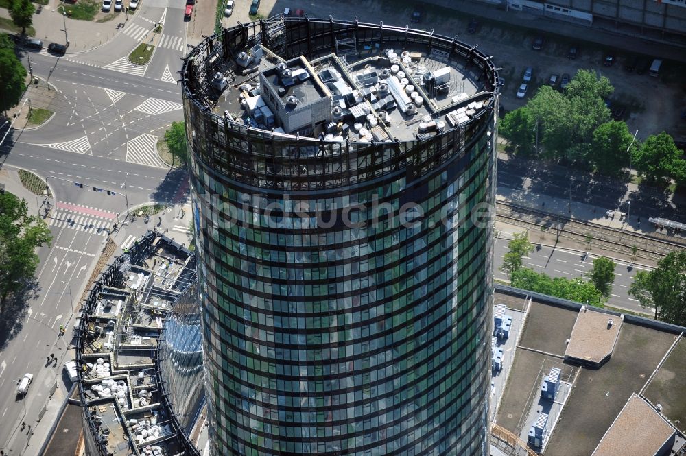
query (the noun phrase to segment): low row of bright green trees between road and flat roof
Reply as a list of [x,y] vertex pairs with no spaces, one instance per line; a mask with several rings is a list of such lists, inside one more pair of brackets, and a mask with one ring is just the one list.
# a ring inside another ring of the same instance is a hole
[[582,278],[552,278],[543,272],[536,272],[528,267],[520,267],[510,274],[512,287],[536,293],[543,293],[558,298],[568,299],[595,307],[603,307],[606,298],[595,288],[593,283]]

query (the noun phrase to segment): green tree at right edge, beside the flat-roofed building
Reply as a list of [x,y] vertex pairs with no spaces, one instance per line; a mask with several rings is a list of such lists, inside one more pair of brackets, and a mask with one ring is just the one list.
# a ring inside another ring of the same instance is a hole
[[643,307],[655,307],[655,320],[686,326],[686,250],[667,254],[657,269],[639,271],[629,293]]

